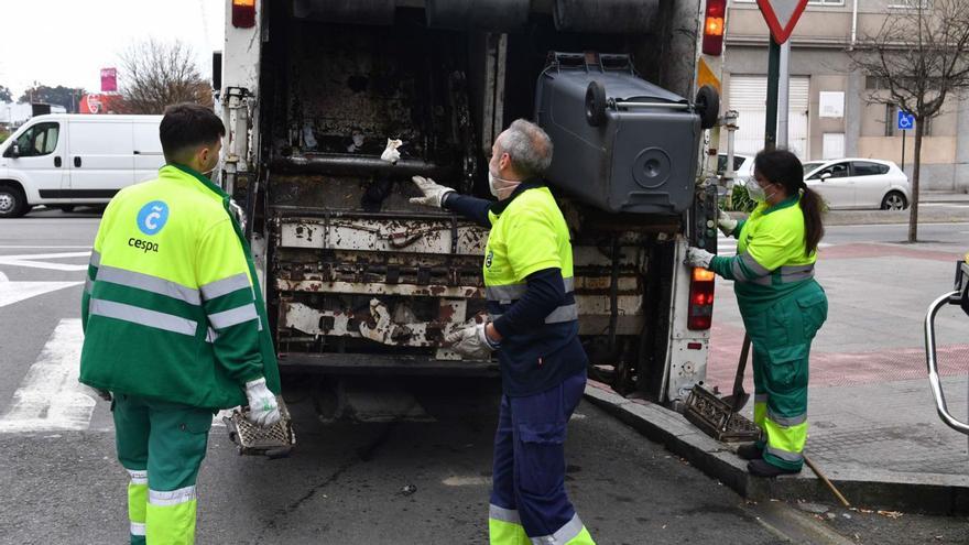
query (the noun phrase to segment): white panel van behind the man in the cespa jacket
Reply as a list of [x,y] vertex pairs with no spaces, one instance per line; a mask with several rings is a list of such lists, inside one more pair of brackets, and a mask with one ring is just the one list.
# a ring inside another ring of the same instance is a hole
[[37,116],[0,144],[0,218],[105,204],[165,164],[161,116]]

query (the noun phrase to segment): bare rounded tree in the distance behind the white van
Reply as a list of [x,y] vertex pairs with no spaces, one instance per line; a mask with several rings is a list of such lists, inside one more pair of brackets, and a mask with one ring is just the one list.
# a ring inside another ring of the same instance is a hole
[[121,53],[122,109],[127,113],[162,113],[176,102],[213,106],[210,85],[203,79],[192,48],[181,41],[151,39]]

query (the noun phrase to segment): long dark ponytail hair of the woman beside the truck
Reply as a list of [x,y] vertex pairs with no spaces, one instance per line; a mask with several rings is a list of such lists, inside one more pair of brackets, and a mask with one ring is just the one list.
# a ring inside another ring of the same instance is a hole
[[821,224],[821,197],[804,183],[804,166],[797,155],[787,150],[764,150],[753,160],[754,171],[772,184],[784,187],[787,195],[801,192],[801,211],[804,214],[804,242],[807,255],[817,250],[825,236]]

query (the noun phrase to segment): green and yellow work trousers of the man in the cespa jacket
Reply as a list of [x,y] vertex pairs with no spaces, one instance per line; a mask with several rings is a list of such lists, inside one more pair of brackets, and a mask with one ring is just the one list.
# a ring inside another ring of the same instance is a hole
[[195,543],[195,479],[205,458],[213,412],[117,395],[118,460],[128,470],[131,543]]

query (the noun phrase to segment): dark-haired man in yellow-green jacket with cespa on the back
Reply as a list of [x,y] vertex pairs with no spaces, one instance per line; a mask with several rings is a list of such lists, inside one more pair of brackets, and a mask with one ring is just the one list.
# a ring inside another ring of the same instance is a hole
[[80,382],[111,401],[132,544],[195,542],[195,480],[213,415],[280,419],[279,369],[238,207],[209,179],[225,128],[175,105],[165,166],[105,210],[81,298]]

